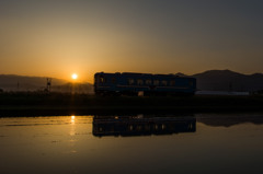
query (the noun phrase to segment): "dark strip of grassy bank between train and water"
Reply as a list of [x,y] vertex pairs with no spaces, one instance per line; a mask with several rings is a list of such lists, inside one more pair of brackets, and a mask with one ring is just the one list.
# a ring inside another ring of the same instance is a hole
[[[70,93],[0,93],[0,114],[204,113],[263,111],[263,96],[95,96]],[[0,116],[1,116],[0,115]]]

